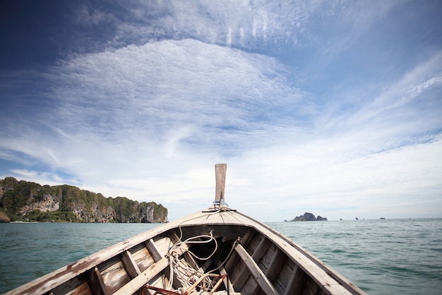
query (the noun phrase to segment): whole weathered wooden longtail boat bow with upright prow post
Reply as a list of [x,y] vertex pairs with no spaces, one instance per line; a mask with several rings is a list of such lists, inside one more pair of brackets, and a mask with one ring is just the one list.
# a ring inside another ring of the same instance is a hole
[[226,169],[215,165],[215,202],[208,209],[6,294],[365,294],[297,243],[228,207]]

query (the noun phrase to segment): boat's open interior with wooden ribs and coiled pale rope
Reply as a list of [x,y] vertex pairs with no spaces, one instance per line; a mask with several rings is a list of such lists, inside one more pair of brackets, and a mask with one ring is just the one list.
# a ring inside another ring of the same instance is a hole
[[202,225],[169,229],[50,294],[323,293],[301,267],[255,229]]

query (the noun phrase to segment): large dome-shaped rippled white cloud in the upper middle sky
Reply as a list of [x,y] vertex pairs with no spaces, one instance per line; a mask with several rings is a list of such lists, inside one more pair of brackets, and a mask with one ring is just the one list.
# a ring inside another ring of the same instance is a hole
[[108,139],[126,132],[159,139],[183,125],[193,126],[189,137],[205,137],[197,132],[203,127],[253,133],[275,125],[287,107],[306,111],[302,92],[287,86],[275,59],[194,40],[87,54],[54,67],[49,79],[57,127],[93,129]]

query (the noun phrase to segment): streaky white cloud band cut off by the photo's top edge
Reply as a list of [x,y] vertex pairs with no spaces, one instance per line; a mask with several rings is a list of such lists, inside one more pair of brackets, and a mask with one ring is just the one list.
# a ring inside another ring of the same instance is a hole
[[121,22],[115,42],[129,38],[143,44],[165,38],[193,38],[256,50],[274,45],[311,45],[323,37],[315,30],[343,37],[352,28],[348,42],[394,5],[393,1],[133,1],[129,5],[124,1],[122,8],[136,21]]

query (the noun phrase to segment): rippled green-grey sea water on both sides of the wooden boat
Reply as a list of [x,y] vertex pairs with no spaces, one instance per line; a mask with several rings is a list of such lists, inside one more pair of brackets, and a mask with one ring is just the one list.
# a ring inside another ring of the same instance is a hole
[[[267,223],[368,294],[441,294],[442,219]],[[159,224],[0,224],[0,294]]]

